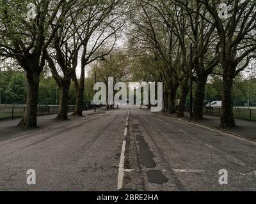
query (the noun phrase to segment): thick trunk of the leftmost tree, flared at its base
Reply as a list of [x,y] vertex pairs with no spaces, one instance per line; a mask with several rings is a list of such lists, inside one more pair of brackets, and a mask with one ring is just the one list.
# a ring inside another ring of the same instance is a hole
[[38,105],[39,75],[37,73],[27,72],[26,78],[28,81],[26,108],[18,126],[37,128],[36,116]]

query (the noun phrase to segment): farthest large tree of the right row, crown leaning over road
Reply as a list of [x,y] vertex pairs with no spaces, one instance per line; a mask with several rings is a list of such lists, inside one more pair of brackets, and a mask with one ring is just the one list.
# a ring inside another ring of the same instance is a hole
[[[155,55],[155,61],[161,59],[164,62],[162,70],[164,82],[164,101],[168,103],[169,113],[176,113],[176,93],[179,87],[180,67],[175,67],[175,57],[179,47],[173,29],[164,22],[159,11],[156,9],[157,1],[139,1],[136,6],[139,15],[131,15],[134,24],[132,38],[138,41],[136,47],[140,46],[142,52]],[[170,4],[168,4],[170,5]],[[135,44],[135,43],[134,43]]]

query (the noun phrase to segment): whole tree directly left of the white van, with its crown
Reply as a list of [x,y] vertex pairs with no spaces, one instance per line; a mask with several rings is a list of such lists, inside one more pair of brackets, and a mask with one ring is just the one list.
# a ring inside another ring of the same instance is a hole
[[193,118],[203,119],[205,84],[214,68],[220,62],[218,36],[214,32],[215,24],[207,17],[204,4],[193,1],[179,1],[179,6],[186,10],[189,27],[186,29],[188,38],[193,43],[193,68],[195,75],[190,76],[196,82],[193,101]]

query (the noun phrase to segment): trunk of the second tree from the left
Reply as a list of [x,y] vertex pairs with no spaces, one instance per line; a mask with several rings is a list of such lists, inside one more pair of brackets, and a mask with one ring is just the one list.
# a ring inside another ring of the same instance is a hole
[[70,87],[70,82],[63,83],[64,85],[61,87],[61,95],[60,95],[60,106],[58,110],[58,115],[56,119],[58,120],[67,120],[68,119],[68,92]]

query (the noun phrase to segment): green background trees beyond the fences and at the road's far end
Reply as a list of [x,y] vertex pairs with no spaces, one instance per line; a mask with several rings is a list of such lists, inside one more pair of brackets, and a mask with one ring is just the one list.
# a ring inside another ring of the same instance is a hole
[[[145,63],[145,62],[144,62]],[[119,66],[118,66],[119,64]],[[141,82],[154,81],[150,74],[145,74],[148,67],[143,68],[140,62],[134,63],[131,59],[127,59],[124,54],[111,54],[106,57],[105,61],[98,61],[88,70],[88,77],[84,82],[84,105],[90,105],[93,100],[93,85],[95,82],[95,71],[97,73],[97,81],[108,83],[108,77],[114,77],[115,82]],[[124,66],[123,66],[124,65]],[[144,64],[145,65],[145,64]],[[132,70],[134,69],[134,70]],[[160,79],[159,79],[160,80]],[[210,101],[221,100],[222,80],[218,75],[212,75],[211,80],[205,85],[205,104]],[[19,71],[0,71],[0,87],[1,87],[1,103],[5,105],[23,105],[26,103],[26,77],[24,73]],[[193,87],[195,91],[195,87]],[[177,91],[177,98],[180,98],[181,90]],[[234,80],[232,90],[233,104],[235,106],[247,105],[248,99],[250,106],[256,106],[256,80],[253,77],[239,76]],[[60,89],[54,78],[42,76],[38,91],[38,104],[40,105],[58,105],[60,100]],[[186,106],[189,103],[189,97],[186,99]],[[74,82],[70,86],[68,104],[76,105],[76,91]]]

